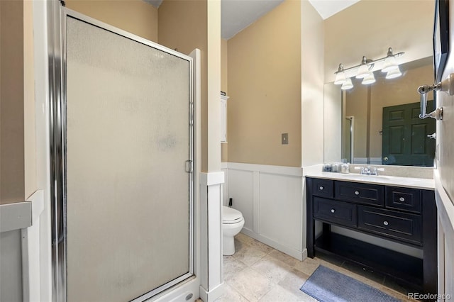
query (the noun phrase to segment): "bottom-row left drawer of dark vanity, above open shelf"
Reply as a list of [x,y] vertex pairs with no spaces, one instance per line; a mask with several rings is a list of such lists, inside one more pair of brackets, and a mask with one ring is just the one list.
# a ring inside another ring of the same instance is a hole
[[356,205],[314,197],[314,217],[340,225],[356,227]]

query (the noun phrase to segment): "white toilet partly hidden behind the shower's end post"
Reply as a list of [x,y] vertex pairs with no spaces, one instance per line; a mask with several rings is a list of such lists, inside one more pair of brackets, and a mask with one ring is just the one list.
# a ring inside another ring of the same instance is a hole
[[228,206],[222,207],[222,255],[230,256],[235,254],[235,241],[233,236],[240,233],[243,228],[243,214]]

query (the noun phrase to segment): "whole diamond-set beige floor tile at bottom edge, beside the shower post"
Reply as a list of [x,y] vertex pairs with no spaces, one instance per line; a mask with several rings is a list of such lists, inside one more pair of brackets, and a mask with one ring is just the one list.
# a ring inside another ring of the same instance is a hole
[[226,283],[251,302],[258,301],[276,286],[270,279],[250,268],[243,269]]

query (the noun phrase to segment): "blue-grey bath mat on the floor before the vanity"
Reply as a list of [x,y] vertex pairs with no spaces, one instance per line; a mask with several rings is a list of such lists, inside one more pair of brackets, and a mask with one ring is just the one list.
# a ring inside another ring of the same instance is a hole
[[328,267],[323,267],[323,265],[319,265],[311,274],[301,286],[301,291],[321,302],[400,301],[372,286],[328,269]]

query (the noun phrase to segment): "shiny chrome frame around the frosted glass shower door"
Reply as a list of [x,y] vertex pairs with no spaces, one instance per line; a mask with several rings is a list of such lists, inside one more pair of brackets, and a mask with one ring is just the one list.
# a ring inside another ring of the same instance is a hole
[[[192,57],[109,26],[94,18],[63,7],[60,1],[48,1],[48,51],[50,82],[50,191],[52,225],[52,301],[67,301],[67,222],[66,222],[66,21],[76,18],[109,30],[138,43],[186,60],[189,63],[189,160],[194,162],[194,63]],[[194,276],[194,169],[189,172],[189,272],[153,289],[132,301],[145,301]]]

